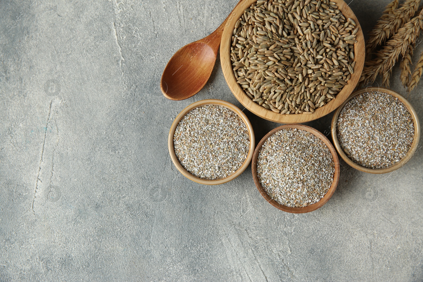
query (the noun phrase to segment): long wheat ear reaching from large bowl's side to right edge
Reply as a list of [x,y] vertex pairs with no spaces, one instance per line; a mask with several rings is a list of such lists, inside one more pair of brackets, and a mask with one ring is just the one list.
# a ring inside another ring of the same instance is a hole
[[385,44],[381,50],[376,52],[376,58],[366,62],[360,82],[373,83],[378,74],[386,74],[395,65],[399,55],[405,56],[409,46],[414,44],[423,28],[423,10],[418,16],[407,22],[398,32]]

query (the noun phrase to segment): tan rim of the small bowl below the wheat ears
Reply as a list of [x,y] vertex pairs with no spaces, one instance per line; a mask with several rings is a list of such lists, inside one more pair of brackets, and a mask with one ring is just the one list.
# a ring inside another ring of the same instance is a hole
[[[410,112],[410,114],[413,118],[413,121],[414,121],[414,139],[413,139],[413,142],[411,143],[411,148],[409,149],[407,154],[404,156],[404,158],[402,158],[399,162],[397,162],[396,164],[390,165],[389,167],[385,167],[385,168],[362,167],[361,165],[353,162],[351,159],[348,158],[348,156],[346,156],[346,154],[342,150],[341,145],[339,145],[339,142],[338,142],[338,137],[336,135],[336,124],[338,123],[339,113],[341,112],[341,110],[345,106],[345,104],[348,103],[355,96],[358,96],[358,95],[366,93],[366,92],[372,92],[372,91],[387,93],[391,96],[398,98],[398,100],[400,100],[407,107],[407,110]],[[335,111],[335,114],[333,115],[333,118],[332,118],[332,124],[331,124],[331,130],[330,131],[331,131],[332,140],[333,140],[333,144],[335,145],[336,151],[338,151],[338,154],[341,156],[341,158],[347,164],[349,164],[351,167],[354,167],[356,170],[360,170],[360,171],[368,172],[368,173],[374,173],[374,174],[381,174],[381,173],[387,173],[387,172],[392,172],[394,170],[398,170],[398,168],[402,167],[406,162],[408,162],[409,159],[411,159],[411,157],[418,150],[417,147],[419,145],[419,140],[420,140],[419,118],[418,118],[417,112],[414,110],[412,105],[409,103],[409,101],[407,101],[407,99],[405,99],[400,94],[396,93],[393,90],[390,90],[390,89],[387,89],[387,88],[382,88],[382,87],[368,87],[368,88],[365,88],[365,89],[357,90],[354,93],[352,93],[351,96],[346,101],[344,101],[342,103],[342,105]]]

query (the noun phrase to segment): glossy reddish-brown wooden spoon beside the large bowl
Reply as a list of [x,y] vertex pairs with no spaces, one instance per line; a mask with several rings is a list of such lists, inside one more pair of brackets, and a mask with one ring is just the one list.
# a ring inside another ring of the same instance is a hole
[[229,16],[209,36],[185,45],[170,58],[160,81],[160,89],[166,98],[188,99],[206,85],[216,63],[220,39]]

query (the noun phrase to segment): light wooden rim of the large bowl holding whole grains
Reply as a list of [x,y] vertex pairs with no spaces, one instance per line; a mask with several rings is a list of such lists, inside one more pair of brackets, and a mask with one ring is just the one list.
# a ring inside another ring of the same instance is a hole
[[236,77],[233,74],[231,62],[232,35],[236,21],[242,16],[245,9],[249,8],[251,4],[257,2],[257,0],[244,0],[233,10],[231,15],[229,16],[228,22],[225,25],[225,30],[223,31],[222,35],[222,41],[220,43],[220,63],[222,64],[222,70],[226,82],[228,83],[228,86],[231,89],[233,95],[250,112],[255,115],[258,115],[261,118],[277,123],[305,123],[311,120],[315,120],[317,118],[321,118],[322,116],[334,111],[343,103],[343,101],[348,98],[352,91],[354,91],[354,88],[357,86],[358,80],[360,79],[361,72],[363,71],[364,66],[365,46],[363,30],[361,29],[357,17],[354,15],[351,8],[349,8],[349,6],[343,0],[332,1],[335,2],[336,5],[338,5],[338,8],[342,11],[342,14],[345,16],[346,19],[351,18],[357,24],[358,32],[356,33],[356,40],[358,42],[354,44],[354,60],[356,63],[354,66],[354,74],[351,75],[351,78],[348,81],[348,85],[345,85],[342,88],[341,92],[336,95],[335,99],[332,99],[323,107],[316,109],[312,114],[281,115],[279,113],[273,112],[272,110],[267,110],[266,108],[260,106],[244,93],[244,90],[242,90],[241,86],[236,82]]

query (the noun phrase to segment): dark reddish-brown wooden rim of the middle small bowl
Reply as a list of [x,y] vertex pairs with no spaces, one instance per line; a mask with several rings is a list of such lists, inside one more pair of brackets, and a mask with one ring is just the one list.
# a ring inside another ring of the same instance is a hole
[[[320,199],[319,202],[314,203],[312,205],[308,205],[306,207],[302,207],[302,208],[290,208],[290,207],[287,207],[286,205],[281,205],[281,204],[277,203],[275,200],[273,200],[269,196],[269,194],[266,193],[266,191],[264,191],[264,189],[261,186],[260,181],[258,180],[258,177],[257,177],[257,157],[258,157],[258,153],[261,149],[261,146],[263,146],[263,144],[264,144],[264,142],[266,142],[267,138],[269,138],[271,135],[273,135],[276,131],[279,131],[281,129],[288,129],[288,128],[302,129],[302,130],[308,131],[308,132],[314,134],[316,137],[320,138],[320,140],[322,140],[324,142],[324,144],[327,146],[327,148],[329,148],[330,153],[332,154],[332,157],[333,157],[333,162],[335,163],[335,173],[333,174],[333,182],[332,182],[332,185],[330,186],[329,190],[327,191],[327,193],[324,195],[323,198]],[[261,196],[263,196],[264,199],[266,199],[266,201],[269,202],[271,205],[273,205],[275,208],[278,208],[281,211],[286,211],[288,213],[293,213],[293,214],[308,213],[310,211],[315,211],[318,208],[320,208],[322,205],[324,205],[330,199],[330,197],[332,197],[332,194],[335,192],[335,189],[338,186],[338,182],[339,182],[339,159],[338,159],[338,155],[336,154],[335,148],[333,148],[333,146],[332,146],[332,143],[326,138],[326,136],[321,134],[320,131],[317,131],[313,127],[305,126],[303,124],[286,124],[286,125],[283,125],[283,126],[279,126],[275,129],[273,129],[272,131],[270,131],[268,134],[266,134],[266,136],[264,136],[263,139],[261,139],[261,141],[258,143],[257,147],[255,148],[251,168],[252,168],[251,170],[253,171],[253,179],[254,179],[255,186],[257,187],[258,192],[260,192]]]

